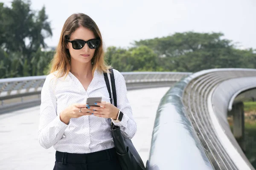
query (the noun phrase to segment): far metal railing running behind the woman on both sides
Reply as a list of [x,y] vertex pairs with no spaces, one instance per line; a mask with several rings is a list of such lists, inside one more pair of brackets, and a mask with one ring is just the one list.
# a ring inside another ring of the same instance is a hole
[[[128,90],[139,88],[168,87],[183,77],[186,72],[122,72]],[[38,105],[46,76],[0,79],[0,111],[9,108]]]

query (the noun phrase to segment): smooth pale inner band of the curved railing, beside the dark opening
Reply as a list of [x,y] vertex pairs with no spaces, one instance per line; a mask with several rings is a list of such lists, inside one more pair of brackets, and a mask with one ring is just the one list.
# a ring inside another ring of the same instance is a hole
[[[236,77],[228,79],[221,82],[215,89],[212,89],[212,93],[208,96],[208,101],[211,101],[211,104],[208,103],[209,114],[212,120],[216,119],[215,121],[212,121],[212,124],[214,125],[218,140],[239,170],[253,170],[254,168],[244,155],[243,150],[236,142],[236,139],[230,130],[227,122],[228,105],[230,99],[237,91],[241,91],[241,89],[250,89],[253,87],[255,81],[256,74],[253,77],[248,78]],[[228,90],[224,91],[227,87],[229,87]],[[220,93],[222,93],[223,96],[220,97],[218,95]]]

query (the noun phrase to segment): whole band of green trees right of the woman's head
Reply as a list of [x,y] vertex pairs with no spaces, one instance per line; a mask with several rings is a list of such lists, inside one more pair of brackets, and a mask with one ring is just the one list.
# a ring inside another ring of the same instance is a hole
[[110,47],[106,56],[120,71],[197,72],[210,68],[256,68],[256,51],[237,49],[222,33],[175,33]]

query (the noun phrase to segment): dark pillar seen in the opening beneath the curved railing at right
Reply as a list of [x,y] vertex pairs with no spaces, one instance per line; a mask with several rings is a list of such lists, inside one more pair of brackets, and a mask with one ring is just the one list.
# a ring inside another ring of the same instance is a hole
[[230,112],[233,115],[233,135],[235,136],[236,141],[245,153],[246,148],[244,139],[244,103],[234,103]]

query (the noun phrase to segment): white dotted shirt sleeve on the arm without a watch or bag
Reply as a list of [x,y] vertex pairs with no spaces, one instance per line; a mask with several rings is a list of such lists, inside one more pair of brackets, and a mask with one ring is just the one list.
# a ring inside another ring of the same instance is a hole
[[52,147],[63,137],[68,126],[61,122],[59,115],[57,116],[54,78],[54,75],[48,75],[41,90],[38,140],[40,145],[46,149]]

